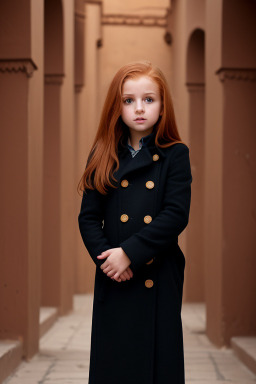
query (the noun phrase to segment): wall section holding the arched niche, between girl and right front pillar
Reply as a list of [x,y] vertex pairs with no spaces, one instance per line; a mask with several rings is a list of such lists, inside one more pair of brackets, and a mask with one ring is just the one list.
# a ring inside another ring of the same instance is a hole
[[203,250],[204,218],[204,110],[205,110],[205,2],[173,0],[168,25],[172,44],[174,106],[184,140],[190,148],[192,200],[187,238],[184,301],[205,298]]

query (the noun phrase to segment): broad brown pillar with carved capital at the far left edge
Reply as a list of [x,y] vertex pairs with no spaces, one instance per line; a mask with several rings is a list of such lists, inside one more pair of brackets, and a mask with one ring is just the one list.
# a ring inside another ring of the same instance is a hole
[[[24,356],[38,350],[41,122],[31,99],[36,65],[31,59],[0,60],[0,338],[23,342]],[[34,151],[34,147],[37,151]]]

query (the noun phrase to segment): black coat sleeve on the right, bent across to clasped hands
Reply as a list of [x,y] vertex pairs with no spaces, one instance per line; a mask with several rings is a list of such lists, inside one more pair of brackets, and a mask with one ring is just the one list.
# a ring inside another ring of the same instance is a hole
[[162,210],[150,224],[120,244],[133,270],[165,250],[187,226],[191,182],[189,149],[185,144],[175,144],[169,160]]

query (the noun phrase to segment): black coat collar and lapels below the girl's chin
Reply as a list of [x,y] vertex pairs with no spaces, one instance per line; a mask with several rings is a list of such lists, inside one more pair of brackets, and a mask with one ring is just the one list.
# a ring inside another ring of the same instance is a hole
[[159,160],[165,158],[166,154],[155,145],[155,135],[149,138],[147,146],[143,146],[137,155],[132,158],[131,153],[125,145],[126,139],[119,145],[119,168],[114,173],[114,177],[119,181],[128,173],[143,169],[144,167],[154,163],[153,155],[158,154]]

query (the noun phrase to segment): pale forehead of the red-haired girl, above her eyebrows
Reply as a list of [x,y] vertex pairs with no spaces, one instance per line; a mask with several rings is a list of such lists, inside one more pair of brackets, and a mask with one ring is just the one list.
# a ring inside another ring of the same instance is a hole
[[159,86],[157,82],[149,76],[139,76],[126,79],[123,83],[122,91],[123,93],[131,93],[135,91],[159,92]]

